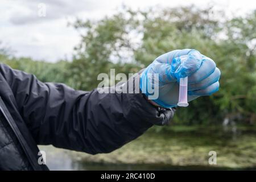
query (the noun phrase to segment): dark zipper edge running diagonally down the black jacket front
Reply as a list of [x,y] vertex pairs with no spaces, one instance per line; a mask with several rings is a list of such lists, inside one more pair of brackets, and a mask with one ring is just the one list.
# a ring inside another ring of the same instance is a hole
[[[23,138],[22,134],[20,133],[18,126],[14,122],[13,117],[11,117],[11,114],[9,113],[9,110],[7,109],[1,96],[0,96],[0,110],[2,111],[2,114],[5,117],[6,121],[9,123],[11,129],[14,131],[14,134],[18,138],[18,141],[19,141],[20,145],[22,146],[23,151],[25,152],[32,168],[34,170],[42,170],[42,168],[40,168],[39,165],[36,163],[37,160],[36,160],[34,154],[32,153],[30,147],[28,146],[28,143],[26,142],[26,140]],[[34,158],[33,158],[33,156],[34,156]]]

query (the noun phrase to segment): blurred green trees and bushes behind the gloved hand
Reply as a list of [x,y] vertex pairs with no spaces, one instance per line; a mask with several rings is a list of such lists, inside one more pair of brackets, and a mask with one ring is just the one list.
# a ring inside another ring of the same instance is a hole
[[220,90],[178,109],[174,122],[208,124],[224,118],[256,120],[256,10],[245,17],[225,18],[224,11],[195,6],[134,11],[126,7],[101,20],[77,20],[81,34],[72,62],[46,63],[6,56],[13,68],[34,73],[42,81],[64,82],[91,90],[97,75],[135,73],[157,56],[174,49],[194,48],[216,61]]

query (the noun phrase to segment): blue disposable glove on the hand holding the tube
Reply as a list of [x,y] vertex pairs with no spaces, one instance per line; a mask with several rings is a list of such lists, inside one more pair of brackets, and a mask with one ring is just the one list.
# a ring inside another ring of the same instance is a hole
[[165,53],[148,65],[141,74],[140,88],[155,104],[175,107],[179,100],[179,80],[186,76],[188,102],[199,96],[209,96],[220,86],[220,70],[212,59],[195,49],[182,49]]

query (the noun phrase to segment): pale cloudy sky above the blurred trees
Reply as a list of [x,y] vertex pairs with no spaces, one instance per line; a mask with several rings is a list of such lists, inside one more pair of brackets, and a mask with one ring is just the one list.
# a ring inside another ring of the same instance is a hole
[[76,18],[97,20],[114,14],[122,5],[146,9],[156,5],[177,7],[192,3],[199,7],[214,5],[230,16],[244,15],[256,9],[253,0],[1,0],[0,46],[9,47],[18,57],[51,62],[70,60],[80,37],[75,28],[67,24]]

